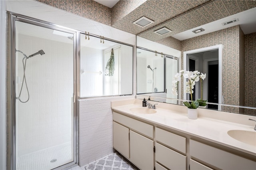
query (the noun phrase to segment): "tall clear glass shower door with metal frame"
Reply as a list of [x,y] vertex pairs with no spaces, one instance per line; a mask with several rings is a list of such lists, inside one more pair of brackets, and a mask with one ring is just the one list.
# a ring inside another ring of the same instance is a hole
[[74,34],[15,21],[16,170],[74,161]]

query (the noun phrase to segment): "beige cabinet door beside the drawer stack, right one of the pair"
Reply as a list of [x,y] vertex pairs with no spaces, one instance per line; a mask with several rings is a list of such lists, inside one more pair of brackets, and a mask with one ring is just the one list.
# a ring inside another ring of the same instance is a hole
[[154,169],[154,141],[130,130],[130,160],[141,170]]

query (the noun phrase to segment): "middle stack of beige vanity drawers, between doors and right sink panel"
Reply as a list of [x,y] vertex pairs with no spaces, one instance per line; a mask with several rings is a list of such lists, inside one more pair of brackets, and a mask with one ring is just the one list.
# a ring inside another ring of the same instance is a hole
[[[157,163],[170,170],[186,170],[185,137],[156,127],[155,140]],[[156,170],[158,170],[158,166],[156,166]]]

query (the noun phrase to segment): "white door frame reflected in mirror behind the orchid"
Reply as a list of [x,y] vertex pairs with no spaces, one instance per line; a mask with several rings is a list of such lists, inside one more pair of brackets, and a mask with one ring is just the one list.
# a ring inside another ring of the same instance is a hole
[[[183,52],[183,69],[186,70],[187,68],[187,56],[188,54],[193,54],[193,53],[199,53],[199,52],[204,52],[204,51],[210,51],[213,49],[218,49],[218,70],[219,70],[219,82],[218,82],[218,104],[222,104],[222,48],[223,45],[219,44],[219,45],[214,45],[214,46],[210,46],[210,47],[204,47],[204,48],[199,48],[199,49],[193,49],[190,51],[184,51]],[[207,76],[207,75],[206,75]],[[184,100],[188,100],[187,99],[187,94],[184,91],[184,89],[186,89],[186,83],[183,83],[183,99]],[[218,105],[218,110],[221,110],[221,105]]]

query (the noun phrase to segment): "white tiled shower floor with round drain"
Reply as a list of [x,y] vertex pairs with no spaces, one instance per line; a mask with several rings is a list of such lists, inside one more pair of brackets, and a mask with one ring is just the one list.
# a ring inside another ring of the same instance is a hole
[[[73,161],[71,143],[65,143],[18,157],[16,170],[50,170]],[[56,161],[52,161],[56,159]]]

